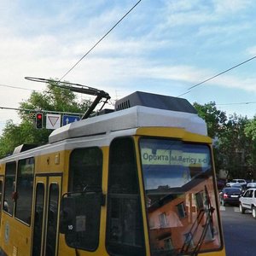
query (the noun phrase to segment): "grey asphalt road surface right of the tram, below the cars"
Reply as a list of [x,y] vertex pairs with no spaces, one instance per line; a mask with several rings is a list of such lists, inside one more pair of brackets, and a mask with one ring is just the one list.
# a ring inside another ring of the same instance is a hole
[[256,255],[256,219],[251,212],[241,214],[238,207],[220,207],[227,256]]

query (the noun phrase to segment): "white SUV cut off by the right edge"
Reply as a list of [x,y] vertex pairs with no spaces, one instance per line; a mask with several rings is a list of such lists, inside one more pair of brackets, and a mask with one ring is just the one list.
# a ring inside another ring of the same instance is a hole
[[251,210],[253,218],[256,218],[256,188],[247,189],[247,191],[239,199],[239,209],[241,213]]

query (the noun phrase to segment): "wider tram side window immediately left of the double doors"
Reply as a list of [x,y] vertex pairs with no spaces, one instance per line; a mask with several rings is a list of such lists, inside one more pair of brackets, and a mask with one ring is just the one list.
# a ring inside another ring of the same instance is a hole
[[26,224],[31,223],[34,159],[27,158],[18,163],[17,199],[15,217]]

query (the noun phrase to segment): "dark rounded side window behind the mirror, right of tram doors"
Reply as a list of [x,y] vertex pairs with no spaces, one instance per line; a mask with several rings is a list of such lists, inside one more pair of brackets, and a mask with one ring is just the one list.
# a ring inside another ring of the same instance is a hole
[[[102,193],[99,194],[98,192],[102,191],[102,168],[102,148],[75,148],[70,154],[68,178],[69,196],[74,197],[74,200],[80,198],[82,202],[80,201],[75,209],[72,209],[76,216],[77,225],[72,234],[66,234],[65,236],[69,247],[77,247],[93,252],[96,251],[99,245],[102,206],[99,195],[102,195]],[[88,171],[87,173],[84,172],[86,169]],[[83,183],[83,180],[85,181],[86,179],[87,183]],[[84,199],[82,196],[78,196],[78,192],[84,195]],[[84,218],[84,223],[79,227],[79,220],[81,218]],[[90,221],[90,218],[93,221]]]

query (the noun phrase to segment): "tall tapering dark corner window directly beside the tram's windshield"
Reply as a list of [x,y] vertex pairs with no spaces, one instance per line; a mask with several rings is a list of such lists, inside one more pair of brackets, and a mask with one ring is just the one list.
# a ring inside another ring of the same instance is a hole
[[113,140],[109,152],[107,241],[111,255],[144,255],[143,217],[133,140]]

